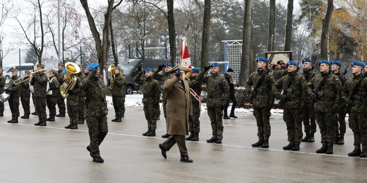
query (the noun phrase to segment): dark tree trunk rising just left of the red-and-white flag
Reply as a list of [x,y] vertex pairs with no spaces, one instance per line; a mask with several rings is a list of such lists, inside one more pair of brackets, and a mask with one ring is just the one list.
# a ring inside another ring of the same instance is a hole
[[173,0],[167,0],[167,21],[168,21],[168,35],[169,35],[169,54],[171,56],[170,62],[172,65],[176,64],[176,29],[175,17],[173,15]]

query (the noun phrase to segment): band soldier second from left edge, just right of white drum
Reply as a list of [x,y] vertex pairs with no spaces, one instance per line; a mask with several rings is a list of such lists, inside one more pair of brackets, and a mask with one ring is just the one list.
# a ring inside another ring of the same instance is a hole
[[9,123],[18,123],[19,117],[19,97],[20,97],[20,85],[14,84],[14,81],[18,79],[18,69],[13,69],[11,71],[11,79],[9,81],[8,88],[4,89],[6,93],[10,94],[8,100],[9,107],[11,111],[11,120]]

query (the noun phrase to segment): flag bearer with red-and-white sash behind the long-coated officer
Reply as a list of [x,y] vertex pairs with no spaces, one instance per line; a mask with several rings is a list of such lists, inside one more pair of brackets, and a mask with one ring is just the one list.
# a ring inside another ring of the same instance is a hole
[[[188,81],[189,87],[196,93],[197,97],[200,97],[202,90],[202,83],[199,82],[196,77],[198,76],[200,69],[193,68],[190,76],[190,81]],[[191,95],[191,103],[192,103],[192,119],[189,118],[188,121],[188,129],[190,132],[190,136],[186,138],[186,141],[199,141],[199,132],[200,132],[200,102],[196,97]]]

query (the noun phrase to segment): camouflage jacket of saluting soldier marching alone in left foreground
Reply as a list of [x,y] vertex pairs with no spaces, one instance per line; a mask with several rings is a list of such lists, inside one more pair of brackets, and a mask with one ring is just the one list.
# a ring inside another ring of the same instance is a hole
[[84,117],[97,117],[107,115],[106,86],[102,79],[91,74],[80,81],[80,90],[86,94],[86,109]]

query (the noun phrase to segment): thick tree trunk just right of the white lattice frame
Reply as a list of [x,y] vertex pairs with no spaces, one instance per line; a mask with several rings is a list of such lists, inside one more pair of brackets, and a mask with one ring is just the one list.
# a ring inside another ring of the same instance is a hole
[[240,70],[240,76],[239,76],[240,85],[244,85],[250,76],[251,27],[252,27],[252,0],[246,0],[245,15],[244,15],[244,21],[243,21],[241,70]]

